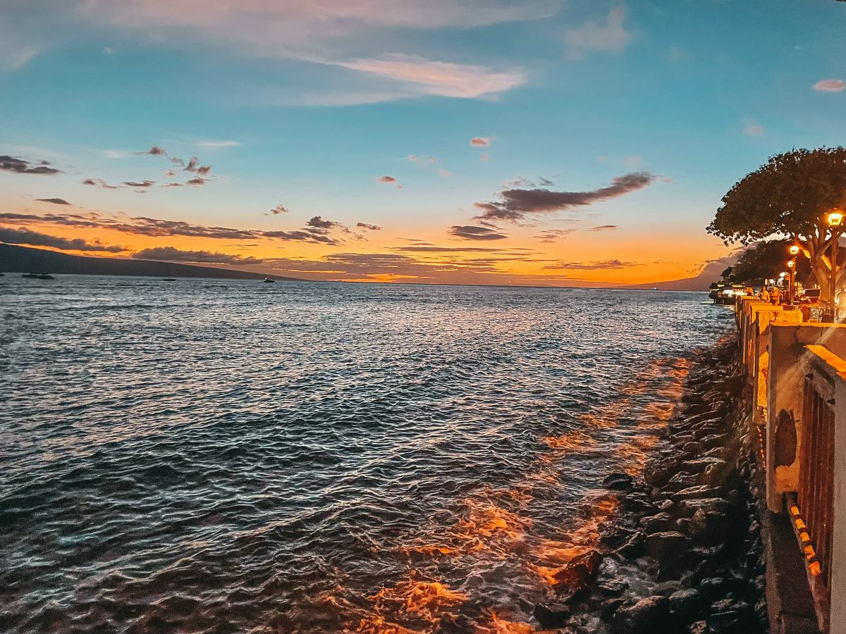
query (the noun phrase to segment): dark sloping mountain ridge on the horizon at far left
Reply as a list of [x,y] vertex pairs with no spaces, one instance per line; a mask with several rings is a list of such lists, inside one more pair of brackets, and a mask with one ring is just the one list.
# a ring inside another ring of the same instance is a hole
[[274,280],[303,281],[296,277],[266,276],[261,273],[217,269],[211,266],[87,257],[0,243],[0,272],[29,273],[30,271],[101,276],[215,277],[228,280],[261,280],[270,277]]

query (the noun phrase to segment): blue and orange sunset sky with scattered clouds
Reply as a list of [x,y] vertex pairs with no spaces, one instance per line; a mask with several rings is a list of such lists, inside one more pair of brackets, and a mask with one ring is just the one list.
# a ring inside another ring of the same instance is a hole
[[694,276],[846,140],[835,0],[0,0],[0,242],[338,281]]

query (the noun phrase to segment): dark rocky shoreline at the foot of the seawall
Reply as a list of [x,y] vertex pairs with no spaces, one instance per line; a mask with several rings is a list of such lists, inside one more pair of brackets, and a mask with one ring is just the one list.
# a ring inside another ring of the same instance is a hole
[[594,634],[766,632],[756,438],[733,338],[695,354],[642,477],[603,483],[619,512],[557,574],[541,626]]

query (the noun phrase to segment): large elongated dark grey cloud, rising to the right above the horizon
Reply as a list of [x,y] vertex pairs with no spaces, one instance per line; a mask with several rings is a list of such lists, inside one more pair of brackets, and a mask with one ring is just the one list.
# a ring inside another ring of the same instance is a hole
[[566,211],[610,200],[649,187],[658,177],[651,172],[630,172],[613,178],[610,185],[584,192],[555,192],[549,189],[504,189],[502,200],[475,203],[482,220],[519,221],[526,214]]

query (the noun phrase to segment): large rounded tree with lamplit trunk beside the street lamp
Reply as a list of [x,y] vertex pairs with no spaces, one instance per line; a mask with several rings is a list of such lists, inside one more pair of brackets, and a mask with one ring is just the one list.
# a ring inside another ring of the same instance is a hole
[[[771,156],[766,165],[734,183],[707,231],[726,244],[772,236],[795,240],[827,299],[832,268],[827,216],[844,205],[846,149],[791,150]],[[843,276],[841,267],[838,283]]]

